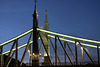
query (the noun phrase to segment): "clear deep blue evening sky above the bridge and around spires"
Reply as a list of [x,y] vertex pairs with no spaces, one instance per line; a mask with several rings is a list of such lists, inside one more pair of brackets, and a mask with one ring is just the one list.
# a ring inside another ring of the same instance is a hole
[[[37,0],[39,26],[48,11],[50,31],[100,41],[100,0]],[[33,25],[34,0],[0,0],[0,43]]]

